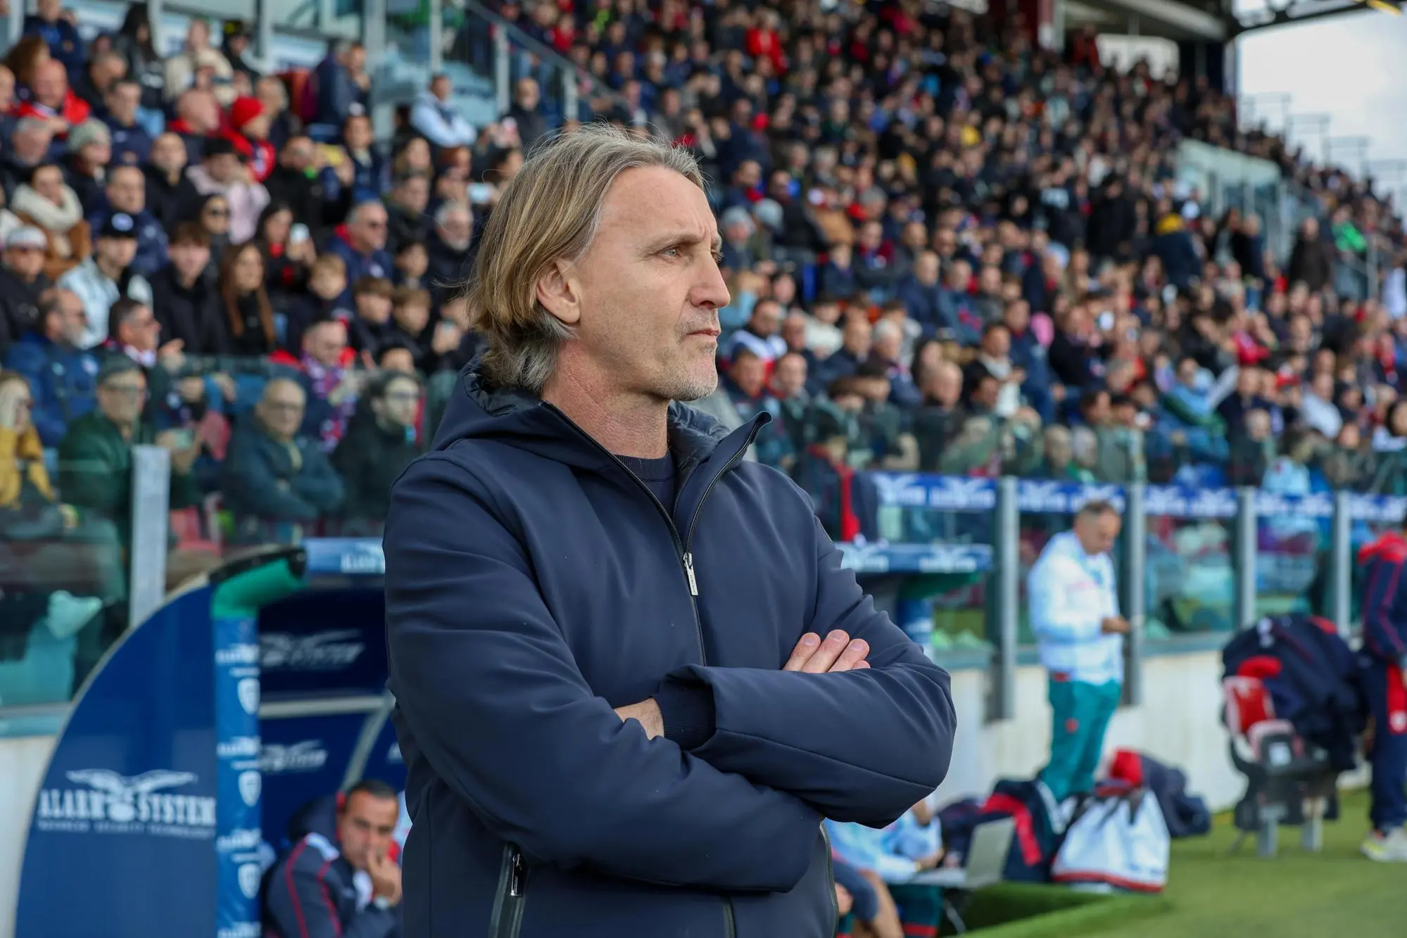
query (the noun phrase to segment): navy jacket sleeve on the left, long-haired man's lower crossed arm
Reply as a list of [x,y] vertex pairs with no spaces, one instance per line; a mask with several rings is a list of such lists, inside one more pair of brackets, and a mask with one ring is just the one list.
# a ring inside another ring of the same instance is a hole
[[473,485],[440,454],[414,463],[383,541],[390,688],[436,775],[542,862],[723,892],[795,886],[820,816],[622,721]]

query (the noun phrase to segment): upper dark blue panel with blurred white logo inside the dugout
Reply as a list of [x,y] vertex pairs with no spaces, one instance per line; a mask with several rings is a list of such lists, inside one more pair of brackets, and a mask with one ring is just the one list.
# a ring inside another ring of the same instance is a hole
[[[310,541],[308,553],[314,553]],[[386,596],[377,588],[308,589],[259,613],[266,700],[386,690]]]

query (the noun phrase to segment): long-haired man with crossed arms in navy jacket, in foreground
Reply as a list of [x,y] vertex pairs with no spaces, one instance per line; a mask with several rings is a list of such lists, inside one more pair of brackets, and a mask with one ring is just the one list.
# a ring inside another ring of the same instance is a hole
[[488,349],[383,540],[407,935],[832,938],[822,818],[947,773],[947,672],[743,458],[768,418],[677,402],[718,385],[719,240],[694,158],[609,125],[490,217]]

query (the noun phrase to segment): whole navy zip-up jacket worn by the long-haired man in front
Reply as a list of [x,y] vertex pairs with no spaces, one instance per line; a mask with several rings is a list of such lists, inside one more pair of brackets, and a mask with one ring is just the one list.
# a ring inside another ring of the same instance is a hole
[[[841,568],[810,499],[675,405],[663,506],[560,411],[460,373],[387,516],[390,688],[418,938],[830,938],[822,816],[947,772],[948,675]],[[779,671],[843,629],[870,669]],[[654,696],[666,737],[612,707]]]

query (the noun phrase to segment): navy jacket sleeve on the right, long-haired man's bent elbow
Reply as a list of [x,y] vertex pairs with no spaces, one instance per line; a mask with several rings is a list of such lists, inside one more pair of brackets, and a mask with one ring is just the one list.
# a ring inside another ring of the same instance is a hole
[[874,608],[820,522],[812,522],[816,596],[805,631],[825,637],[840,629],[864,638],[870,668],[801,674],[689,665],[668,675],[663,689],[712,692],[713,734],[692,750],[709,765],[791,792],[829,818],[884,825],[947,775],[957,726],[948,672]]

